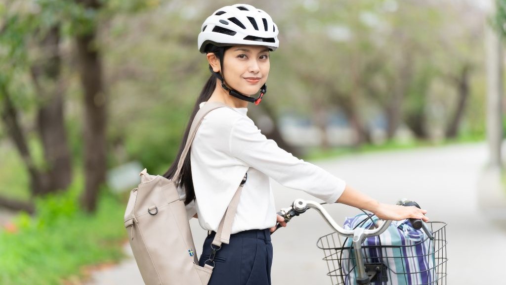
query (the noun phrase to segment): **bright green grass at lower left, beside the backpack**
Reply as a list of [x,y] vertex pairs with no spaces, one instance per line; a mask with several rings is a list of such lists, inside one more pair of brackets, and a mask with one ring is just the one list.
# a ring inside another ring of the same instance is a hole
[[20,214],[13,228],[0,231],[0,283],[58,284],[81,275],[84,265],[122,257],[122,203],[102,193],[89,215],[77,206],[78,188],[38,199],[35,217]]

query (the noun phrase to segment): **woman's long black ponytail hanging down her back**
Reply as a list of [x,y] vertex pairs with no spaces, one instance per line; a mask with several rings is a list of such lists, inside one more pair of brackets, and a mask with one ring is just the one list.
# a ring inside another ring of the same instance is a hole
[[[219,59],[220,62],[223,63],[223,54],[225,53],[225,50],[227,47],[217,47],[215,45],[208,45],[207,46],[207,53],[214,53]],[[223,66],[223,65],[222,65]],[[210,68],[211,72],[213,72],[213,69]],[[197,101],[195,102],[195,105],[193,106],[193,111],[191,113],[190,119],[188,120],[188,125],[186,126],[186,130],[183,135],[183,140],[181,141],[181,145],[179,147],[178,155],[176,156],[176,159],[172,163],[171,167],[168,168],[167,172],[163,174],[163,177],[167,179],[173,179],[174,175],[176,174],[176,170],[178,169],[178,162],[181,158],[181,154],[183,153],[183,150],[186,145],[186,140],[188,139],[188,135],[190,133],[191,124],[193,122],[193,119],[195,118],[195,115],[197,114],[198,110],[200,109],[200,103],[206,102],[209,97],[213,94],[216,88],[216,76],[212,74],[207,82],[204,85],[204,88],[202,88],[202,91],[200,91],[200,95],[197,98]],[[193,180],[191,176],[191,160],[190,160],[190,152],[188,152],[188,155],[185,157],[185,161],[183,163],[183,168],[181,169],[181,172],[179,174],[179,177],[176,177],[175,179],[176,183],[179,187],[183,187],[186,192],[186,198],[185,198],[185,205],[190,203],[193,199],[195,199],[195,190],[193,188]]]

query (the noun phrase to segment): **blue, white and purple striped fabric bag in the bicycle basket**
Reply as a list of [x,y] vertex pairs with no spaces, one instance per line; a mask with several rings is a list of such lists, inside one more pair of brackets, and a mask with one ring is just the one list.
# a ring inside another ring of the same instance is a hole
[[[359,227],[362,228],[371,228],[373,222],[377,223],[378,218],[372,216],[371,219],[368,219],[365,214],[360,214],[353,218],[347,218],[344,227],[345,229],[354,229],[360,225]],[[364,220],[367,221],[364,222]],[[349,248],[352,245],[352,240],[348,239],[345,243],[343,246]],[[390,247],[384,247],[385,245]],[[388,282],[376,281],[371,282],[372,285],[436,284],[434,244],[423,231],[413,229],[409,221],[392,222],[391,226],[381,235],[366,238],[362,246],[372,246],[363,249],[363,258],[366,263],[382,262],[388,267],[386,273]],[[343,275],[346,276],[346,285],[355,284],[355,264],[354,254],[344,249],[341,268]]]

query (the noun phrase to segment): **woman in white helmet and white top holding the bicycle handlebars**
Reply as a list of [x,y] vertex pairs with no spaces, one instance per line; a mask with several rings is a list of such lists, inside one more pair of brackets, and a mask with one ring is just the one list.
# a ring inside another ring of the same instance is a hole
[[[202,89],[186,129],[205,102],[222,102],[229,108],[208,113],[193,141],[179,177],[185,204],[196,212],[207,236],[200,265],[214,257],[209,281],[215,284],[270,284],[272,245],[270,231],[276,216],[269,177],[303,190],[328,203],[366,209],[382,219],[416,218],[428,221],[425,210],[378,203],[352,189],[323,169],[299,160],[267,139],[246,115],[248,102],[260,103],[266,92],[269,53],[279,46],[278,30],[271,17],[250,5],[223,7],[209,16],[198,35],[212,75]],[[172,179],[177,163],[164,174]],[[247,173],[229,244],[213,252],[210,243],[238,185]],[[212,253],[213,252],[213,253]],[[215,255],[216,254],[216,255]]]

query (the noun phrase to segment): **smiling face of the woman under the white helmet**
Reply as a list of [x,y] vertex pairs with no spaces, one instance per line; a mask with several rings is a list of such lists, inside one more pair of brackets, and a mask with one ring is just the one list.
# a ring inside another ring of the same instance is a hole
[[263,46],[233,46],[225,51],[223,77],[242,94],[254,95],[269,76],[269,49]]

